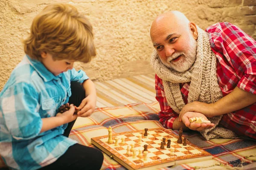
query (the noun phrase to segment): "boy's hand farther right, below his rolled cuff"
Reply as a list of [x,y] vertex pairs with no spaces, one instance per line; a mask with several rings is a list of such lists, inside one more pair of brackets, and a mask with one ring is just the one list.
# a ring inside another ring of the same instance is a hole
[[83,99],[79,107],[76,109],[81,109],[77,115],[81,117],[88,117],[90,116],[96,107],[96,96],[88,95]]

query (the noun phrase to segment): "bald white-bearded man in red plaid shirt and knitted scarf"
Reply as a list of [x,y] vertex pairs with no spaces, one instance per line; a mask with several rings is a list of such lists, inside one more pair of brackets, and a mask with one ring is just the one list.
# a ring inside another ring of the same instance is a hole
[[[164,127],[197,130],[207,140],[238,135],[256,139],[253,38],[231,23],[216,23],[204,31],[179,11],[156,17],[150,36]],[[205,121],[189,122],[194,117]]]

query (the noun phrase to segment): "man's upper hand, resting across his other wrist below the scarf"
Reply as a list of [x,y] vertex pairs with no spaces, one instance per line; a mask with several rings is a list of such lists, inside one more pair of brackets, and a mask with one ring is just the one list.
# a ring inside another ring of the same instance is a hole
[[[185,105],[180,111],[179,121],[181,121],[183,115],[187,112],[198,112],[204,114],[206,117],[213,117],[214,104],[207,104],[203,102],[192,102]],[[202,116],[201,116],[202,117]]]

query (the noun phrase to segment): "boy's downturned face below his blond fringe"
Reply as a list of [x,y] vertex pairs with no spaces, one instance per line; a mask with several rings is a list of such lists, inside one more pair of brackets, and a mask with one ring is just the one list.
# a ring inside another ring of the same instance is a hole
[[74,61],[69,59],[53,60],[52,55],[49,53],[41,52],[42,63],[44,66],[55,76],[71,70],[73,68]]

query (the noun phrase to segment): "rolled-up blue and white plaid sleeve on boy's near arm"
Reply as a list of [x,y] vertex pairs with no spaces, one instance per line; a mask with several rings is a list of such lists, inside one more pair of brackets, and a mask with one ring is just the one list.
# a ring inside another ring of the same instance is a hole
[[38,93],[24,82],[8,88],[0,98],[0,111],[6,129],[14,139],[32,139],[41,131]]

